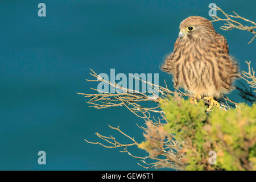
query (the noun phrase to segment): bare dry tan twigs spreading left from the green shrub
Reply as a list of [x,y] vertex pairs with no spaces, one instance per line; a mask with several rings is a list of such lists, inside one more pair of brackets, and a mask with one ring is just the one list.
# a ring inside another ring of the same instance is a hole
[[[154,99],[150,98],[148,94],[152,95],[153,92],[142,93],[138,90],[131,90],[127,88],[123,88],[116,84],[115,82],[107,81],[104,78],[101,78],[91,69],[93,77],[97,80],[86,80],[86,81],[101,81],[106,82],[109,86],[112,86],[115,90],[121,89],[122,93],[109,93],[102,92],[98,89],[93,89],[97,91],[96,94],[87,94],[87,93],[77,93],[81,94],[86,98],[90,98],[87,102],[90,104],[90,107],[94,107],[96,109],[104,109],[108,107],[118,107],[125,106],[131,113],[135,114],[137,117],[142,118],[146,122],[146,127],[137,126],[144,131],[143,136],[145,138],[145,142],[138,143],[134,138],[130,137],[128,134],[124,133],[118,127],[110,126],[110,129],[118,131],[119,134],[125,136],[130,139],[130,143],[120,143],[115,139],[115,137],[106,137],[99,133],[96,133],[97,137],[102,139],[103,142],[89,142],[85,139],[86,142],[91,144],[100,144],[105,148],[123,148],[121,152],[126,152],[128,155],[132,156],[139,160],[138,165],[144,168],[175,168],[183,170],[185,168],[185,164],[182,162],[184,156],[183,147],[181,144],[174,139],[174,136],[171,134],[167,134],[164,131],[163,126],[167,123],[167,119],[164,117],[163,111],[160,109],[158,105],[161,99],[169,98],[170,96],[174,98],[180,97],[192,97],[189,93],[181,92],[181,90],[175,88],[175,92],[172,92],[168,89],[166,81],[164,81],[165,87],[152,84],[151,82],[141,80],[140,78],[134,77],[134,79],[138,79],[147,85],[150,85],[154,88],[159,88],[159,96]],[[209,104],[207,101],[203,100],[205,104]],[[143,106],[144,102],[151,102],[152,107]],[[233,106],[237,106],[236,102],[229,100],[228,97],[224,97],[224,101],[220,102],[223,109],[230,109]],[[184,144],[183,144],[184,145]],[[148,152],[148,156],[135,156],[131,154],[127,150],[127,147],[137,146]],[[187,148],[191,146],[186,145]]]

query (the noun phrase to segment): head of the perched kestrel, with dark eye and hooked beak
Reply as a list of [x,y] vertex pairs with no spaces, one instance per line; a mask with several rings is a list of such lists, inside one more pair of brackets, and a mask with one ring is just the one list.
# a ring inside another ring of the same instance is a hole
[[210,20],[201,16],[189,16],[180,23],[179,37],[200,38],[215,32]]

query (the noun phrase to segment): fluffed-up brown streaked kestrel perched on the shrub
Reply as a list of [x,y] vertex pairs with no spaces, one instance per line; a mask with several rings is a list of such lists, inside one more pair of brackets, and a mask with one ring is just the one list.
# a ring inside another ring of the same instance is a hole
[[204,98],[220,107],[214,98],[232,90],[238,67],[229,56],[228,43],[210,20],[189,16],[180,23],[174,51],[166,56],[162,71],[171,73],[175,88],[184,88],[195,98]]

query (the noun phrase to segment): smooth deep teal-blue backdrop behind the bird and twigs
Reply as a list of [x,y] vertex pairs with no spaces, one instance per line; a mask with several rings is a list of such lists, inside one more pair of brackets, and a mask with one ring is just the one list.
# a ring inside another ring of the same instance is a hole
[[[38,16],[44,2],[47,16]],[[1,1],[0,2],[0,169],[135,170],[137,160],[119,150],[88,144],[95,132],[116,137],[120,126],[139,142],[143,121],[126,108],[96,110],[77,92],[93,93],[86,82],[97,73],[159,73],[160,84],[171,76],[159,70],[172,51],[179,23],[190,15],[208,16],[214,2],[255,20],[251,1]],[[220,15],[220,14],[219,14]],[[229,43],[241,69],[255,67],[255,45],[246,31],[216,31]],[[231,98],[241,101],[236,91]],[[125,138],[120,138],[122,140]],[[38,151],[47,164],[38,164]],[[146,155],[136,147],[136,155]]]

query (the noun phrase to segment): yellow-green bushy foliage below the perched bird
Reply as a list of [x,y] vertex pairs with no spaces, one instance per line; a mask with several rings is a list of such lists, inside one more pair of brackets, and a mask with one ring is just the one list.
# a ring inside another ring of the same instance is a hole
[[[197,105],[179,97],[160,101],[168,120],[164,129],[183,142],[188,170],[255,170],[256,105],[218,109],[207,114],[203,101]],[[209,151],[217,154],[210,165]]]

